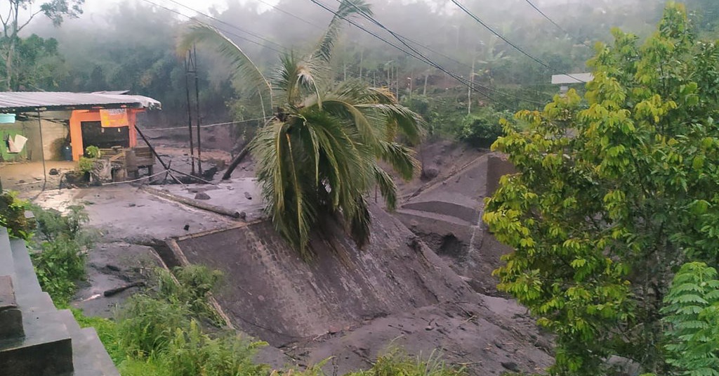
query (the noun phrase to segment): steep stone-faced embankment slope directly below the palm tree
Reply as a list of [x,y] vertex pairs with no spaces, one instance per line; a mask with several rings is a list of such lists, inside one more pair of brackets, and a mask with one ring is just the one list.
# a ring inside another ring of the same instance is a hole
[[242,330],[274,346],[367,320],[475,294],[398,220],[372,208],[372,237],[359,250],[328,225],[303,261],[268,222],[178,241],[193,264],[225,274],[219,302]]

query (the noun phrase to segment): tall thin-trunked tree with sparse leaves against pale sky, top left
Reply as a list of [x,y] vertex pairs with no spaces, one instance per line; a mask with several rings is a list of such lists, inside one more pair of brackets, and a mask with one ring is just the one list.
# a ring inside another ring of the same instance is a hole
[[0,46],[1,56],[5,63],[6,90],[17,89],[14,80],[17,76],[15,72],[16,49],[21,41],[18,33],[41,14],[50,19],[53,25],[60,26],[65,17],[78,17],[82,14],[84,2],[85,0],[50,0],[37,4],[38,2],[35,0],[7,0],[8,13],[6,16],[0,14],[0,24],[3,27]]

